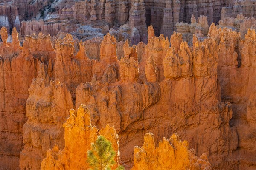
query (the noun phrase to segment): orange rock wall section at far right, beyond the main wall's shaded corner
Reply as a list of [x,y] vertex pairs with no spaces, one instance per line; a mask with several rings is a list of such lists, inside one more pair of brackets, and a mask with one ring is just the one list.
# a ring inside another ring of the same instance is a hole
[[[238,147],[241,148],[233,154],[241,156],[239,168],[248,169],[255,152],[255,147],[251,144],[255,139],[249,134],[255,130],[256,125],[251,110],[255,103],[255,87],[251,85],[255,84],[252,77],[256,76],[256,33],[248,28],[245,39],[241,40],[238,33],[224,28],[217,30],[217,34],[212,36],[220,41],[218,79],[221,85],[221,99],[228,99],[232,103],[234,118],[230,123],[237,127]],[[237,43],[240,43],[239,48],[235,45]]]

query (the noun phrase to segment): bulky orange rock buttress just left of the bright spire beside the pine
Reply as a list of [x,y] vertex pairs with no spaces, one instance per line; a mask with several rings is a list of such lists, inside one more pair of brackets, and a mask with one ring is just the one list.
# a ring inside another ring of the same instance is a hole
[[46,151],[55,144],[64,148],[62,123],[67,119],[69,108],[73,107],[70,92],[59,81],[34,79],[29,94],[26,102],[28,121],[23,125],[25,145],[20,153],[20,169],[23,170],[40,169]]

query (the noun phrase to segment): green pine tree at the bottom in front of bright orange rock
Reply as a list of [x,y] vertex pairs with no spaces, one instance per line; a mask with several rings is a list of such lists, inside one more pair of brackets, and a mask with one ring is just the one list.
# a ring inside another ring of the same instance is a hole
[[[98,136],[87,152],[87,161],[92,170],[111,170],[111,167],[116,164],[115,156],[116,152],[111,142],[103,136]],[[116,170],[125,170],[125,168],[119,165]]]

